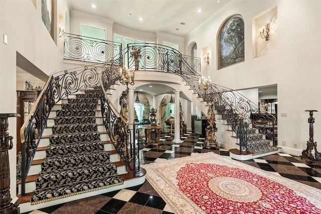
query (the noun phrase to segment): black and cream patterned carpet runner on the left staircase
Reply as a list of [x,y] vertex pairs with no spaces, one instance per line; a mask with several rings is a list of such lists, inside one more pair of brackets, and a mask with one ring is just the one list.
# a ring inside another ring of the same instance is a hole
[[123,184],[97,131],[99,96],[99,89],[86,90],[57,111],[31,204]]

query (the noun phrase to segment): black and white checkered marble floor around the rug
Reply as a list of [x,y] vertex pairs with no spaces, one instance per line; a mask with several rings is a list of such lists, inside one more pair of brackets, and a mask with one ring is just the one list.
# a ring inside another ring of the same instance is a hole
[[[181,136],[181,139],[184,140],[182,143],[173,144],[174,135],[164,133],[161,135],[160,143],[147,145],[144,143],[144,138],[142,138],[139,143],[140,164],[166,161],[193,155],[193,153],[215,152],[220,155],[229,156],[229,152],[222,148],[220,150],[203,148],[205,139],[195,133],[187,132]],[[241,162],[321,189],[321,161],[307,163],[300,157],[278,153]],[[173,213],[173,211],[146,180],[141,185],[26,213],[167,214]]]

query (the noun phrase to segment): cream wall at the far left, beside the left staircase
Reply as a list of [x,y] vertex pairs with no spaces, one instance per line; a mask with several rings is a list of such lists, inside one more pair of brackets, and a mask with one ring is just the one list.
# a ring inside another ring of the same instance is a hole
[[[49,75],[61,70],[62,56],[41,19],[41,0],[0,1],[0,113],[16,112],[16,53]],[[3,41],[4,34],[8,44]],[[57,30],[54,29],[54,38]],[[9,119],[11,197],[16,196],[16,118]]]

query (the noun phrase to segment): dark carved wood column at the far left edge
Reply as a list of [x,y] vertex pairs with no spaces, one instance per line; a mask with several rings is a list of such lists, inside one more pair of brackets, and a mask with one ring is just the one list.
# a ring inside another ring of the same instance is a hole
[[10,165],[8,150],[13,147],[13,136],[9,136],[9,133],[7,132],[9,117],[20,117],[20,114],[0,114],[0,214],[19,214],[19,204],[13,204],[10,196]]

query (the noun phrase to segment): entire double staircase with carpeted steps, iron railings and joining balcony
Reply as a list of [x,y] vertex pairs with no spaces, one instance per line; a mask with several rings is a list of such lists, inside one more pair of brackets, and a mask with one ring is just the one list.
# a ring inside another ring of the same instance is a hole
[[[236,124],[239,117],[244,118],[236,115],[236,112],[242,115],[258,111],[256,104],[245,106],[249,103],[246,98],[239,99],[233,94],[233,90],[219,89],[212,83],[207,90],[201,89],[200,74],[187,63],[185,57],[175,50],[159,48],[159,46],[156,44],[149,44],[148,47],[139,47],[137,44],[127,46],[126,56],[128,57],[132,56],[130,53],[134,48],[139,48],[141,55],[143,51],[148,50],[147,60],[154,59],[150,64],[144,64],[145,61],[141,60],[138,66],[140,71],[137,72],[136,77],[142,71],[155,71],[153,73],[159,71],[181,78],[180,81],[175,81],[175,84],[181,87],[178,90],[189,91],[190,94],[185,93],[185,95],[193,103],[197,103],[204,113],[207,107],[202,104],[202,101],[194,101],[197,99],[204,101],[204,98],[213,100],[216,115],[221,115],[224,121],[222,124],[228,125],[228,128],[224,128],[224,132],[231,133],[231,139],[236,139],[235,142],[229,143],[229,146],[231,148],[240,146],[240,149],[230,149],[232,158],[240,159],[240,156],[245,160],[253,158],[254,155],[258,157],[270,152],[279,152],[279,148],[265,139],[266,135],[257,127],[252,127],[248,120],[243,123],[249,124],[245,129]],[[158,57],[153,58],[150,54]],[[37,110],[29,116],[22,132],[25,136],[22,145],[26,144],[26,154],[22,155],[26,164],[23,161],[23,172],[28,173],[27,177],[22,176],[22,186],[25,184],[25,188],[21,189],[25,190],[26,195],[18,200],[22,212],[144,182],[145,171],[139,167],[138,169],[130,167],[130,163],[134,163],[133,166],[135,166],[137,153],[139,153],[135,147],[128,148],[135,145],[134,136],[127,139],[130,131],[125,122],[120,119],[120,115],[114,112],[114,107],[111,107],[113,101],[110,102],[106,97],[102,97],[100,105],[100,88],[95,88],[102,85],[105,91],[112,89],[115,81],[119,80],[117,69],[122,66],[122,58],[123,56],[116,56],[106,64],[66,70],[51,76],[48,80],[42,91],[43,94],[37,100],[39,101]],[[170,59],[170,61],[164,63],[164,59]],[[132,67],[133,63],[134,60],[131,58],[128,60],[127,67]],[[164,65],[167,67],[165,68]],[[200,69],[197,66],[196,68]],[[148,76],[150,75],[144,75],[144,78]],[[138,79],[136,77],[135,80]],[[159,79],[158,76],[157,78]],[[176,78],[171,77],[175,80]],[[154,82],[155,79],[152,81]],[[168,84],[169,79],[164,80],[164,84]],[[185,85],[178,83],[185,83]],[[207,97],[208,95],[213,97]],[[117,98],[118,96],[113,95],[114,100]],[[236,103],[240,101],[243,102],[241,105]],[[236,106],[242,108],[237,109]],[[119,124],[125,125],[119,126]],[[218,129],[220,128],[223,130],[222,126],[218,126]],[[224,141],[224,143],[230,142],[230,139]],[[139,161],[137,162],[139,166]],[[128,173],[127,170],[135,172]]]

